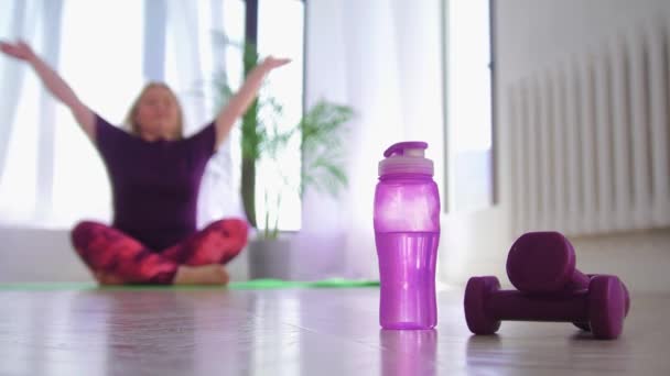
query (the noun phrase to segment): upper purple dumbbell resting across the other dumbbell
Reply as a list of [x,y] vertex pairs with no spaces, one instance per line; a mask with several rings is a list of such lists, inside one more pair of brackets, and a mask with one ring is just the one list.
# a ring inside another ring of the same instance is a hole
[[[570,241],[559,232],[529,232],[512,244],[507,256],[507,276],[519,291],[545,295],[588,288],[591,278],[575,267],[576,256]],[[630,309],[630,296],[626,285],[625,314]],[[574,322],[583,330],[587,323]]]

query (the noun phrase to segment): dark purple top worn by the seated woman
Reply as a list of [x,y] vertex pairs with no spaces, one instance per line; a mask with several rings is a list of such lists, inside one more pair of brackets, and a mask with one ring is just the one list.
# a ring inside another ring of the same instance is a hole
[[160,252],[196,231],[197,196],[214,154],[214,122],[177,141],[147,142],[96,114],[111,181],[114,226]]

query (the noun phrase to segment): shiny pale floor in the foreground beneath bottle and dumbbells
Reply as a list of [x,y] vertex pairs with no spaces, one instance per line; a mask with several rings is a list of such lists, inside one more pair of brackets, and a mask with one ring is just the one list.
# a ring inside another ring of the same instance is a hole
[[0,290],[0,375],[669,375],[669,295],[624,334],[505,322],[473,336],[460,289],[433,331],[382,331],[377,288]]

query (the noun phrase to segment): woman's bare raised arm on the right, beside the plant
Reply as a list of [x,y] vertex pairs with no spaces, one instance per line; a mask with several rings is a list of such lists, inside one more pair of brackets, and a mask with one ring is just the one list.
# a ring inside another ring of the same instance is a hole
[[290,59],[288,58],[274,58],[269,56],[247,75],[245,84],[242,84],[241,88],[233,98],[230,98],[228,104],[216,117],[215,148],[226,140],[237,118],[247,112],[247,109],[256,99],[266,75],[274,68],[289,64],[289,62]]

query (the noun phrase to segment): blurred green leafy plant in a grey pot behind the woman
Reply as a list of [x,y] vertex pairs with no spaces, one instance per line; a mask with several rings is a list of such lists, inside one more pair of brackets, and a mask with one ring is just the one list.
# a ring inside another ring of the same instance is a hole
[[[245,45],[245,73],[250,71],[259,62],[256,48]],[[219,101],[225,103],[233,90],[225,75],[218,75],[216,90]],[[262,115],[261,115],[262,114]],[[250,225],[258,230],[258,236],[250,240],[250,278],[289,278],[290,240],[279,231],[279,208],[281,189],[277,197],[263,195],[266,211],[262,218],[256,217],[256,169],[259,161],[271,161],[279,172],[279,186],[287,187],[288,179],[281,173],[279,156],[295,137],[300,140],[302,164],[300,196],[309,188],[337,197],[347,185],[344,170],[343,136],[346,123],[353,118],[350,107],[320,100],[304,111],[298,124],[288,131],[277,131],[281,121],[282,106],[279,98],[263,96],[257,99],[242,117],[241,122],[241,196],[245,213]],[[262,225],[259,225],[262,224]]]

